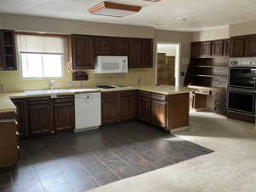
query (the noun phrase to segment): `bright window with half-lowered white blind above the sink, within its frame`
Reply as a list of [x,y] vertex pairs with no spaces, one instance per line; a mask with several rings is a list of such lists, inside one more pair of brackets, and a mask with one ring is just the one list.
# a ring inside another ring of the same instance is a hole
[[63,38],[21,34],[18,44],[23,79],[62,77]]

